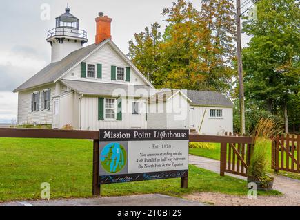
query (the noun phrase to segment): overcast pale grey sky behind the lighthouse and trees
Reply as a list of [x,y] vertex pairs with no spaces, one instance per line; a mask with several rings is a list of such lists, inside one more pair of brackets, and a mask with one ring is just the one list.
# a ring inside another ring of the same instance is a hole
[[[67,3],[70,13],[80,19],[79,28],[88,32],[94,43],[98,12],[112,18],[112,40],[124,52],[134,33],[158,21],[163,25],[162,9],[174,0],[14,0],[1,1],[0,19],[0,123],[17,118],[17,94],[12,90],[50,63],[48,30],[55,17],[63,14]],[[190,0],[196,8],[200,0]],[[42,6],[50,5],[50,19],[41,19]],[[243,45],[248,41],[243,36]]]

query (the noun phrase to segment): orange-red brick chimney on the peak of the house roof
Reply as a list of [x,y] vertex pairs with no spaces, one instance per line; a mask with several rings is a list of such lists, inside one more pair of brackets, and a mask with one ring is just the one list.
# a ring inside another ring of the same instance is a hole
[[96,18],[96,44],[106,39],[112,39],[112,35],[110,34],[112,19],[103,15],[104,14],[100,12],[99,17]]

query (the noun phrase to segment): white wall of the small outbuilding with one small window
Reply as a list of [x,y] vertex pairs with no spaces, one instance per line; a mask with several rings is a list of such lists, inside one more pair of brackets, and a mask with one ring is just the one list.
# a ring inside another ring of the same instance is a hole
[[[190,116],[190,129],[195,129],[199,132],[201,121],[201,135],[223,135],[225,131],[233,131],[233,109],[230,107],[200,107],[190,106],[194,108],[192,115]],[[221,118],[210,118],[210,109],[222,109],[223,117]],[[206,111],[205,111],[206,110]],[[206,114],[204,115],[204,113]],[[204,116],[203,116],[204,115]],[[204,117],[204,118],[203,118]]]

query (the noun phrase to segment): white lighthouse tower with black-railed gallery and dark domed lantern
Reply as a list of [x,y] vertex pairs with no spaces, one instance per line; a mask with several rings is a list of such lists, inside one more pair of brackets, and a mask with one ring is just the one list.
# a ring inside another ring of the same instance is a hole
[[54,63],[83,47],[88,39],[86,31],[79,30],[79,19],[70,14],[67,7],[66,13],[56,18],[56,27],[48,31],[46,41],[52,47],[51,62]]

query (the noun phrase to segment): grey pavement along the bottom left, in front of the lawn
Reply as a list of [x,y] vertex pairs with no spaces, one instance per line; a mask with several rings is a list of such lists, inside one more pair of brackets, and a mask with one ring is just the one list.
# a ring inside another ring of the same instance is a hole
[[98,197],[90,199],[58,199],[50,201],[15,201],[0,206],[207,206],[166,195],[133,195],[125,197]]

